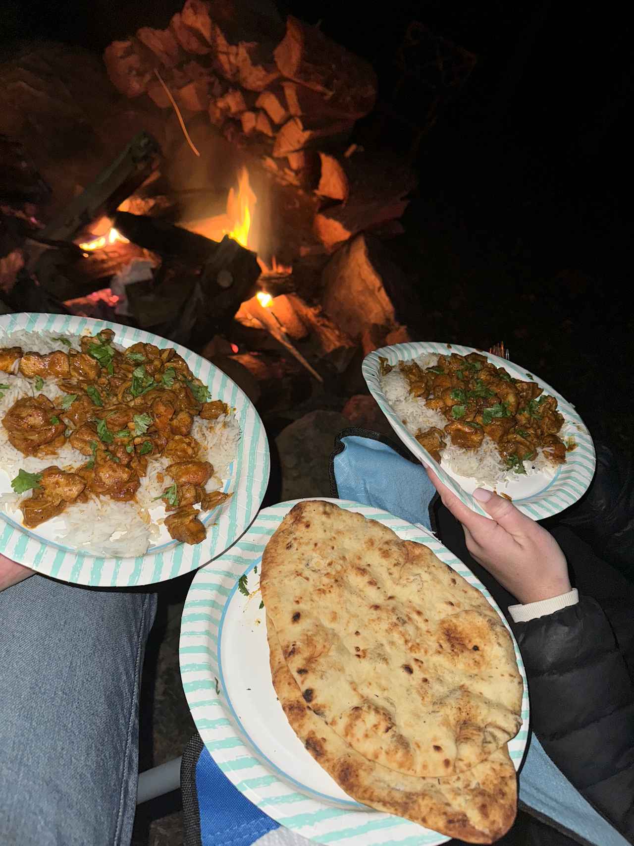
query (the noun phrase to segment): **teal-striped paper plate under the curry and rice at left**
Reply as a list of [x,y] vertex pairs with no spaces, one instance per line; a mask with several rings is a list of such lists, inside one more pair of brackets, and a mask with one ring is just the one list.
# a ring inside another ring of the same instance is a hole
[[[85,317],[48,314],[14,314],[0,317],[0,347],[3,335],[20,329],[27,332],[59,332],[81,335],[101,329],[116,333],[115,343],[129,347],[142,341],[157,347],[172,347],[187,361],[190,370],[209,387],[214,399],[221,399],[235,414],[240,426],[238,452],[229,468],[223,490],[232,492],[225,503],[203,522],[207,525],[205,541],[196,546],[173,541],[157,541],[145,555],[136,558],[108,558],[90,555],[54,541],[50,523],[37,530],[25,529],[14,514],[0,510],[0,552],[38,573],[55,579],[95,587],[130,587],[150,585],[173,579],[220,555],[230,547],[254,519],[264,498],[269,480],[269,445],[260,416],[249,398],[232,380],[209,361],[178,343],[159,338],[118,323]],[[8,475],[0,468],[0,492],[10,492]]]

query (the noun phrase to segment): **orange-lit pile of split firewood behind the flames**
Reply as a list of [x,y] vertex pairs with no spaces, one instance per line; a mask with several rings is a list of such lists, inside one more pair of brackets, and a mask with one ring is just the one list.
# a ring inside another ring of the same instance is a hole
[[350,144],[355,122],[374,107],[374,70],[319,28],[256,19],[239,2],[186,0],[167,29],[142,27],[112,42],[104,55],[112,83],[165,109],[172,97],[186,118],[208,113],[276,179],[314,191],[325,207],[314,231],[329,250],[396,220],[412,173],[395,175],[391,162],[369,162]]

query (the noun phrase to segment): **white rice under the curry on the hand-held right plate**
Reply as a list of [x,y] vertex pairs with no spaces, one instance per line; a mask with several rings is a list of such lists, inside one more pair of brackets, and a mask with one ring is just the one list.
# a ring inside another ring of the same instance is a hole
[[[438,355],[429,353],[420,355],[413,361],[424,370],[426,367],[434,367],[438,363],[438,358]],[[419,429],[424,431],[430,426],[436,426],[441,430],[445,428],[447,424],[445,415],[441,415],[440,411],[429,409],[422,398],[411,396],[407,378],[398,366],[380,377],[380,385],[388,403],[402,420],[403,426],[406,426],[414,436]],[[447,442],[447,446],[441,453],[440,464],[457,475],[475,479],[481,485],[495,486],[522,478],[522,476],[518,477],[514,470],[509,470],[495,447],[495,441],[486,435],[478,449],[463,449],[454,446],[451,441]],[[554,475],[556,468],[555,464],[545,457],[544,450],[539,448],[534,459],[524,462],[524,470],[527,475],[538,473]]]

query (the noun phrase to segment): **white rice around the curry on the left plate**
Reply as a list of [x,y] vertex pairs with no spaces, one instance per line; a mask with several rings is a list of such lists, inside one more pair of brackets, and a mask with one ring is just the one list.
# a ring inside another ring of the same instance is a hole
[[[90,334],[86,330],[85,334]],[[79,338],[73,335],[60,335],[59,332],[13,332],[0,336],[0,347],[22,347],[25,351],[46,354],[56,349],[68,349],[60,343],[60,338],[68,338],[74,349],[80,349]],[[123,349],[118,347],[118,349]],[[44,393],[55,400],[63,392],[57,387],[55,379],[44,380],[44,385],[36,391],[35,381],[25,379],[17,373],[0,372],[0,383],[9,385],[0,389],[0,470],[11,480],[20,469],[29,473],[38,473],[57,464],[63,470],[73,470],[85,464],[86,457],[72,448],[67,442],[57,453],[47,459],[25,457],[8,441],[8,432],[2,425],[2,418],[8,409],[21,397],[36,396]],[[60,415],[63,420],[63,415]],[[238,451],[240,426],[235,415],[221,415],[217,420],[194,419],[192,435],[202,444],[199,459],[210,461],[214,466],[214,475],[206,485],[208,492],[217,491],[227,481],[229,466]],[[161,492],[171,484],[164,475],[171,459],[157,457],[148,463],[148,472],[141,479],[136,495],[136,503],[118,503],[110,498],[94,497],[89,503],[74,503],[54,521],[55,539],[60,543],[95,555],[129,557],[143,555],[150,543],[156,541],[161,531],[158,523],[165,516],[162,503],[156,502]],[[162,474],[162,476],[161,476]],[[8,485],[3,485],[5,490]],[[30,496],[26,492],[25,497]],[[0,494],[0,508],[14,519],[19,519],[19,503],[24,497],[13,492]],[[149,514],[152,509],[153,514]],[[53,524],[52,524],[53,525]]]

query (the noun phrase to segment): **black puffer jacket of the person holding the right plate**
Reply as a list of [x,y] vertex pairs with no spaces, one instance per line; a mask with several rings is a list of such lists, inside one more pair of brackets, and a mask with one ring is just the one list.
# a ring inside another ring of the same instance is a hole
[[[506,613],[514,597],[473,561],[451,514],[440,504],[433,513],[441,541]],[[634,585],[571,530],[551,533],[566,553],[581,601],[529,623],[509,618],[527,670],[531,728],[561,772],[634,843]],[[526,817],[514,829],[500,843],[571,842]]]

